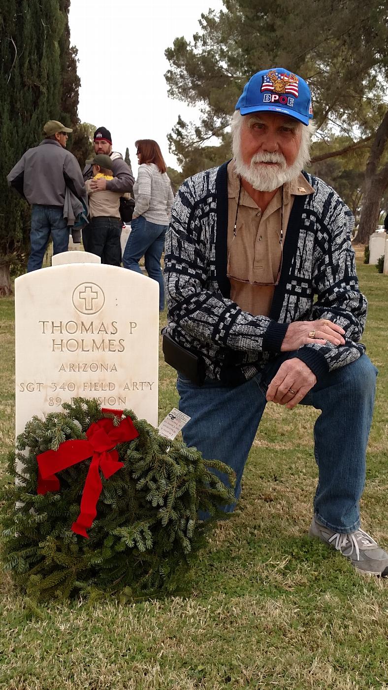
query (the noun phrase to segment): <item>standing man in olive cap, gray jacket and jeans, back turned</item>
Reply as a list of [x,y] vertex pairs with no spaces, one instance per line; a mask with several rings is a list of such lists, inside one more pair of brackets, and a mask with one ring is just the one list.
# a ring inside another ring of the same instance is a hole
[[66,187],[77,198],[85,197],[85,184],[75,156],[66,150],[72,130],[57,120],[46,122],[45,139],[29,148],[7,176],[8,184],[32,204],[31,251],[27,270],[42,267],[52,235],[53,253],[68,250],[69,228],[63,217]]

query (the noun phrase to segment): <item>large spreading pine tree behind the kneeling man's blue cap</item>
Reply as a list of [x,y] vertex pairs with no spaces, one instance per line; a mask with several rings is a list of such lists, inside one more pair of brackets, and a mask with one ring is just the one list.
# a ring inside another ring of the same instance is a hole
[[[212,136],[221,138],[221,147],[227,143],[225,132],[247,79],[274,66],[294,70],[312,89],[320,135],[329,141],[334,133],[347,135],[351,153],[355,144],[371,144],[359,233],[367,242],[388,185],[387,2],[223,0],[223,5],[221,12],[201,15],[193,41],[177,37],[165,50],[170,97],[201,108],[199,125],[178,121],[170,151],[197,170],[207,167],[210,154],[222,159],[222,150],[209,151],[206,144]],[[334,151],[328,146],[327,152]]]

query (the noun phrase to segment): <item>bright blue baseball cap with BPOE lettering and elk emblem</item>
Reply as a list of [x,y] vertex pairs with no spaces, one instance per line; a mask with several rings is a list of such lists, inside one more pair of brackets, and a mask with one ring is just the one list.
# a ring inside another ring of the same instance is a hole
[[313,117],[312,97],[307,83],[283,67],[256,72],[245,84],[235,110],[240,110],[241,115],[263,110],[280,112],[304,125],[308,125]]

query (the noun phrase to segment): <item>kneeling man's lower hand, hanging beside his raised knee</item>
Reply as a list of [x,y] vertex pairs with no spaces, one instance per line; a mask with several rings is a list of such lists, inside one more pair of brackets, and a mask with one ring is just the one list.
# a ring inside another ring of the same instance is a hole
[[316,384],[316,375],[301,359],[286,359],[268,386],[267,401],[292,410]]

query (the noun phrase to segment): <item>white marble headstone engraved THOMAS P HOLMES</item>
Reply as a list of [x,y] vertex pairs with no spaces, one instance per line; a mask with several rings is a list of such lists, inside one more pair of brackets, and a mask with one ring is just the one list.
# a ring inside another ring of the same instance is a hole
[[77,396],[158,426],[156,281],[90,263],[27,273],[15,280],[15,330],[17,434]]

